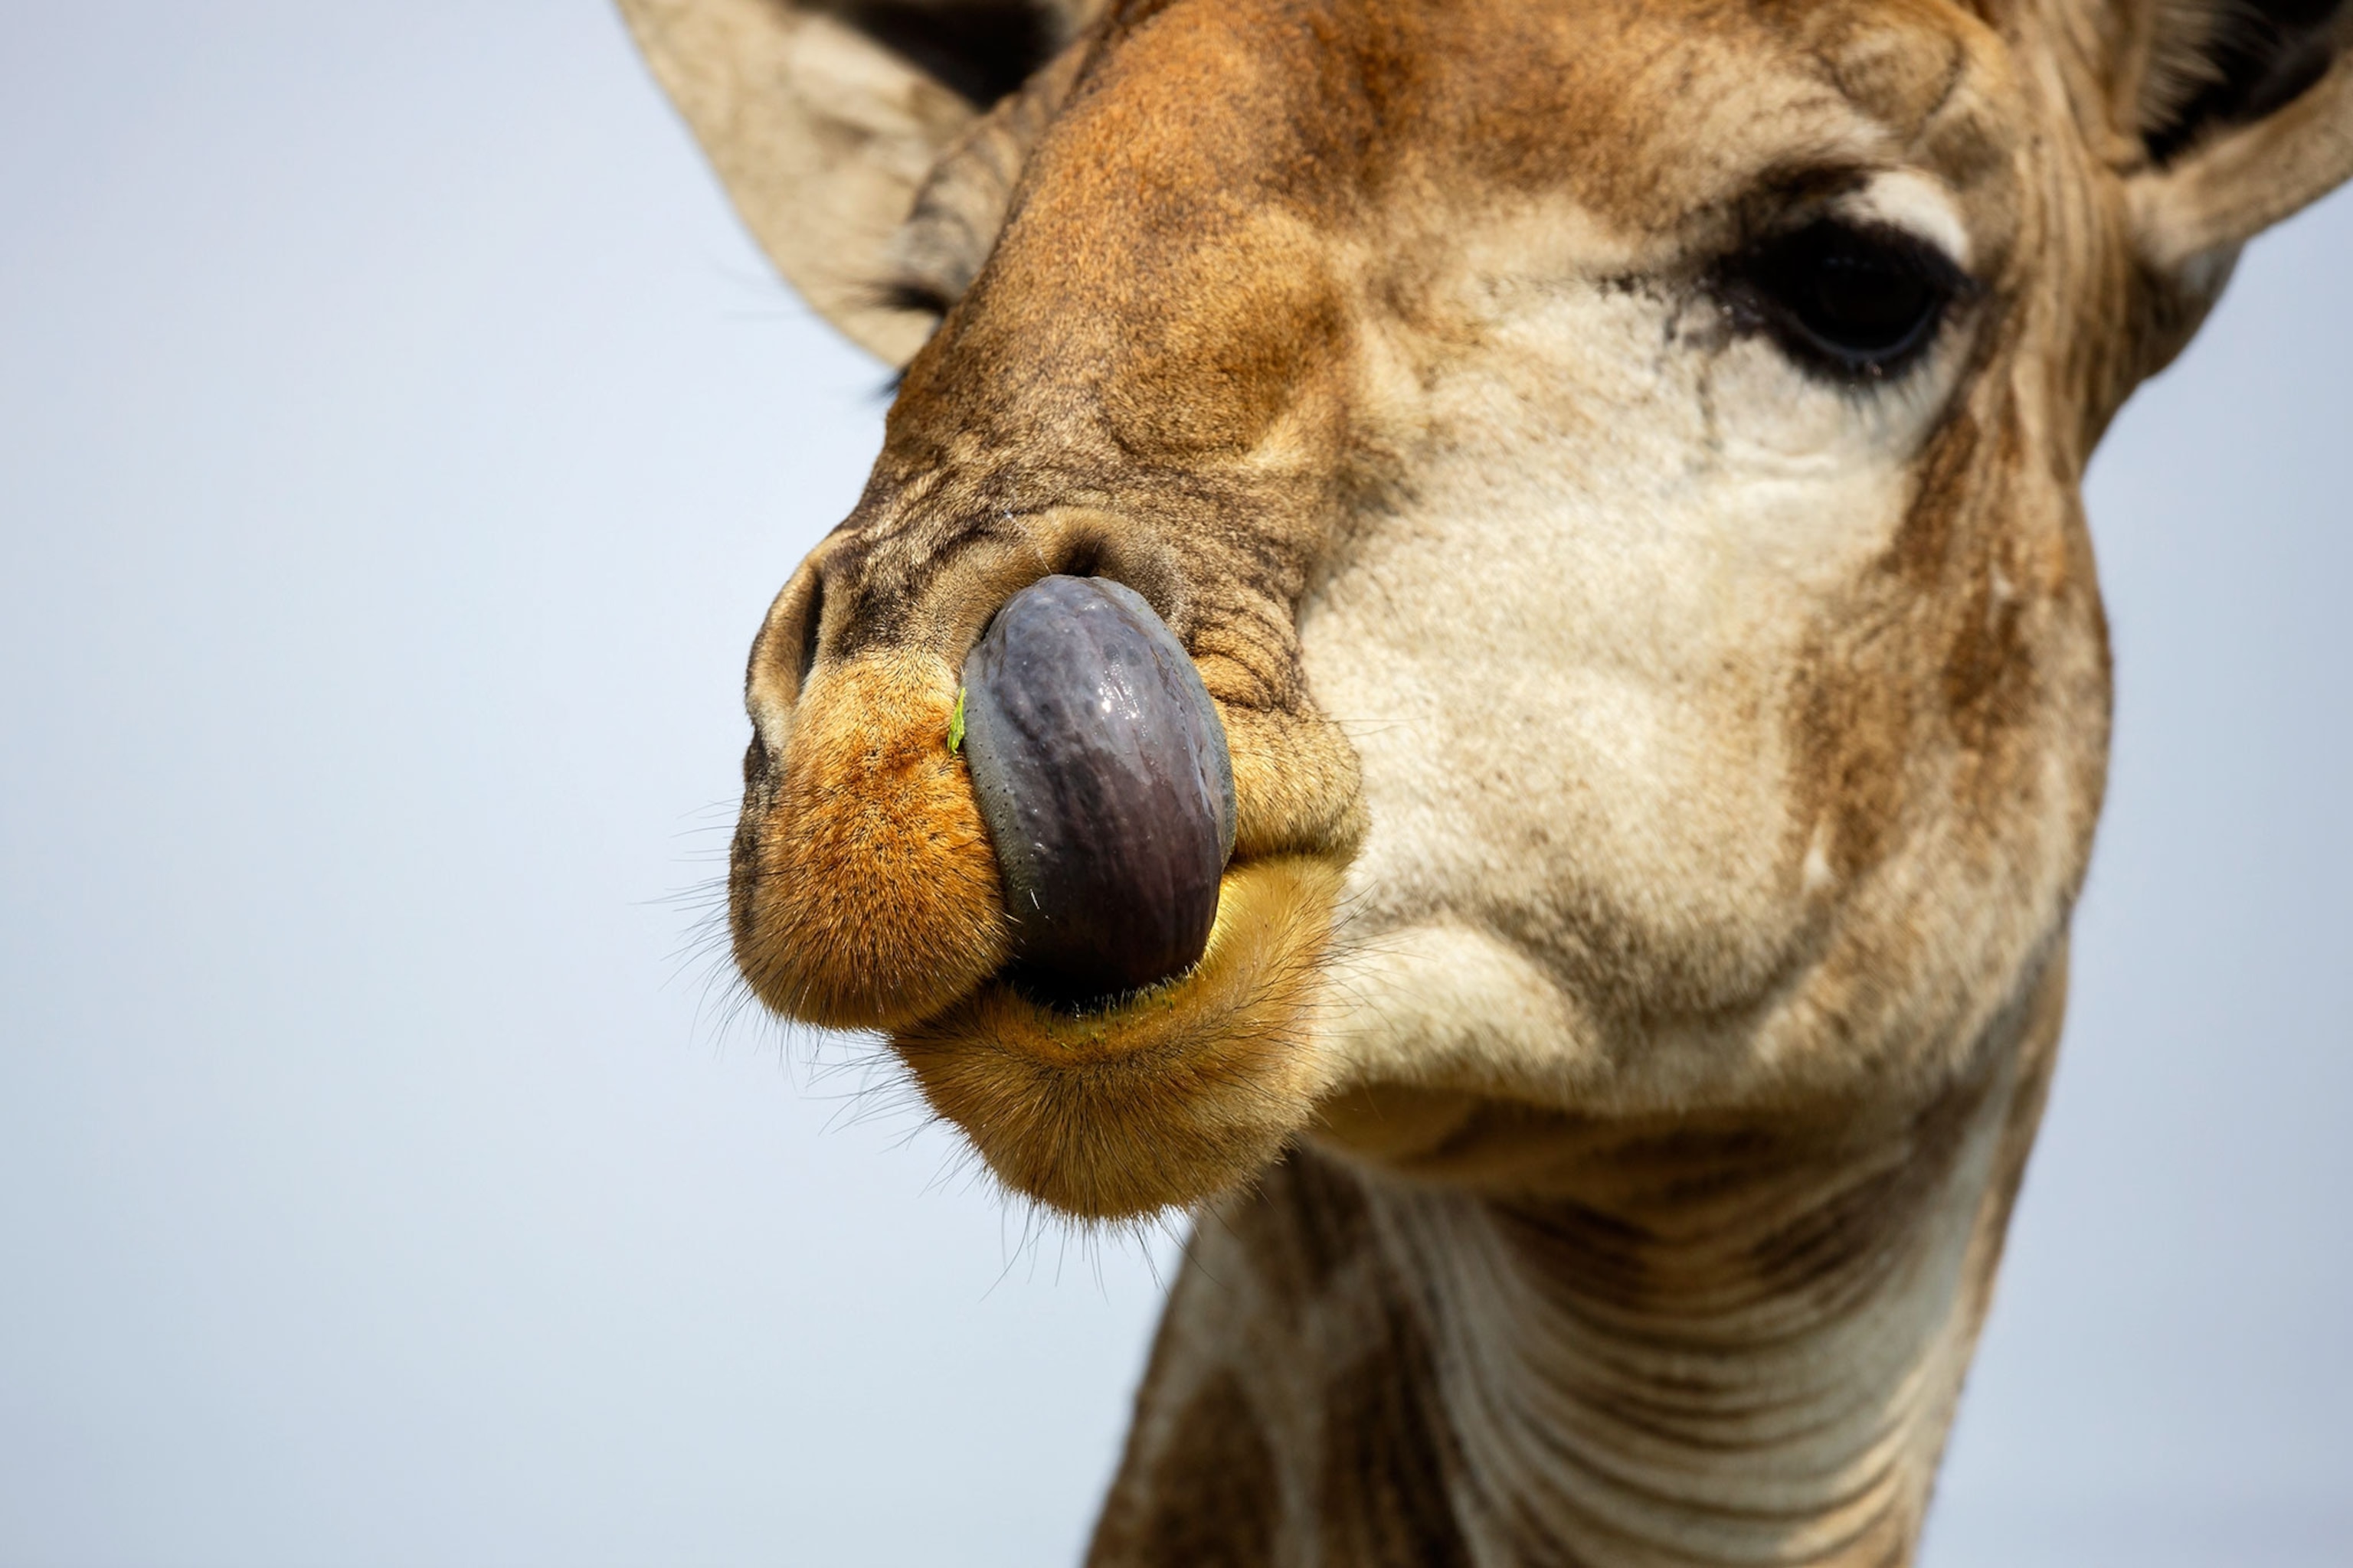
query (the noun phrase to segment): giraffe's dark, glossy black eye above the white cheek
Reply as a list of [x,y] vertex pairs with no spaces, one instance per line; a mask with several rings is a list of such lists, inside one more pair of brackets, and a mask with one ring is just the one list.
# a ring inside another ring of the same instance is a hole
[[1967,287],[1934,244],[1824,219],[1732,266],[1727,294],[1784,353],[1840,381],[1885,381],[1937,339]]

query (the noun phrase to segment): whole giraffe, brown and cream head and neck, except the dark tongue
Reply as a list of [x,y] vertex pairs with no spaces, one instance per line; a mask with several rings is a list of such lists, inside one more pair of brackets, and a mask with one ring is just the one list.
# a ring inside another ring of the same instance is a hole
[[[2337,0],[624,0],[904,367],[751,651],[734,957],[1014,1192],[1195,1215],[1089,1561],[1911,1561],[2099,816],[2080,480],[2353,174]],[[1231,752],[1026,987],[965,658]]]

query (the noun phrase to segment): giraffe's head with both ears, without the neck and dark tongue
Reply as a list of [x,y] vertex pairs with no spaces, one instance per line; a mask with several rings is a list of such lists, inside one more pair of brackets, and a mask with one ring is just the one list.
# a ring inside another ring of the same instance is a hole
[[[1480,1107],[1918,1095],[2099,811],[2078,482],[2353,172],[2334,0],[626,0],[906,376],[751,654],[736,961],[1087,1215]],[[1047,576],[1191,656],[1188,969],[1024,985],[951,745]]]

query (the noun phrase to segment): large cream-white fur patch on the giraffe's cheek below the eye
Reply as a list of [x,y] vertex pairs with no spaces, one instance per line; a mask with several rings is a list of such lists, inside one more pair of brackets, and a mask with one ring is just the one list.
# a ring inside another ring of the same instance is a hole
[[1833,884],[1793,816],[1798,682],[1904,522],[1960,353],[1840,386],[1697,284],[1527,282],[1565,237],[1461,247],[1433,294],[1478,355],[1426,353],[1419,320],[1372,343],[1367,423],[1414,482],[1301,639],[1372,806],[1344,1077],[1633,1107],[1788,1048],[1769,1013]]

